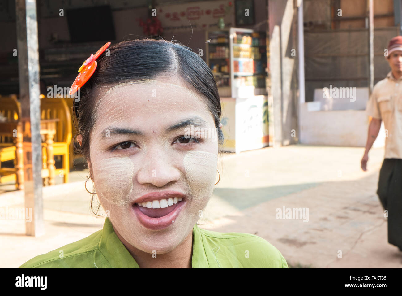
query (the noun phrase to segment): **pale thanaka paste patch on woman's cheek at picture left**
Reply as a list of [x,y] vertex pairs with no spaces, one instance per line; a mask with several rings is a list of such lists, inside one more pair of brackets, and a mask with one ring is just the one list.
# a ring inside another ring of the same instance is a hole
[[134,164],[129,157],[102,159],[93,168],[98,196],[115,205],[127,205],[133,191]]

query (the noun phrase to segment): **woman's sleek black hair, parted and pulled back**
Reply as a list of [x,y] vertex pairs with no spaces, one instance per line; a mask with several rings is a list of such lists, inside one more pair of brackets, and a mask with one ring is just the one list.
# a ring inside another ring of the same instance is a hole
[[222,114],[215,79],[208,65],[191,48],[165,39],[125,40],[109,48],[110,55],[101,54],[92,77],[80,89],[80,100],[74,100],[73,114],[76,130],[82,135],[81,146],[74,147],[86,159],[89,155],[89,135],[94,125],[95,89],[130,81],[146,81],[158,76],[176,76],[193,91],[206,99],[219,144],[223,143],[219,128]]

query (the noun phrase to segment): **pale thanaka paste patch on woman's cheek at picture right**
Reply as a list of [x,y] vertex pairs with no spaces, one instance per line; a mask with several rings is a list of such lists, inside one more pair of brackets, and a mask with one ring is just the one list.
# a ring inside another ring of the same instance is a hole
[[218,157],[207,151],[189,151],[183,164],[191,188],[192,198],[200,200],[211,197],[215,185]]

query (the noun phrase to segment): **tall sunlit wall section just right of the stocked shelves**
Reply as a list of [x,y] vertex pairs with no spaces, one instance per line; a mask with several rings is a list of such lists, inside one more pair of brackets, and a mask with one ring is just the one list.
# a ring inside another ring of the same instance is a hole
[[[295,0],[268,0],[273,145],[297,143],[297,6]],[[292,49],[296,55],[292,56]],[[271,120],[270,120],[271,122]],[[294,134],[294,133],[293,133]]]

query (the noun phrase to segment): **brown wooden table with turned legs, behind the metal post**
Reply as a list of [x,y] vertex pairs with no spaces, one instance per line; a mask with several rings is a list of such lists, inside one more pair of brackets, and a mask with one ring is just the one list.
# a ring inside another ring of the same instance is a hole
[[[42,149],[42,178],[44,178],[44,185],[46,179],[48,184],[55,184],[55,161],[53,155],[54,135],[56,133],[56,122],[59,119],[46,119],[41,120],[40,134],[45,136],[45,151]],[[16,132],[15,132],[16,131]],[[12,137],[14,145],[16,145],[16,179],[18,189],[24,189],[24,178],[31,180],[32,176],[24,176],[32,172],[32,144],[30,141],[24,141],[24,138],[31,138],[30,121],[21,118],[16,122],[0,122],[0,135]]]

